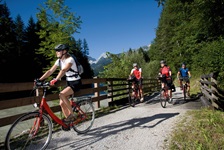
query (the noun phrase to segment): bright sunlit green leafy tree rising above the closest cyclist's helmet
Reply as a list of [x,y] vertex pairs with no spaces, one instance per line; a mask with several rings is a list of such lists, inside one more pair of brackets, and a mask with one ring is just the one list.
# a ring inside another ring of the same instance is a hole
[[[37,13],[41,30],[38,35],[41,39],[38,53],[49,60],[55,59],[55,45],[66,43],[72,45],[72,35],[80,28],[80,17],[76,17],[70,8],[65,6],[64,0],[47,0]],[[53,62],[52,62],[53,63]]]

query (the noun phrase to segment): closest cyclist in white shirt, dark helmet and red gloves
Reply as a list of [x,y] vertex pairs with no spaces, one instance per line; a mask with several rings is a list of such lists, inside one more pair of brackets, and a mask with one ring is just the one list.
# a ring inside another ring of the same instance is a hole
[[69,47],[65,44],[59,44],[54,49],[58,59],[55,61],[54,65],[39,78],[38,81],[43,81],[48,78],[56,71],[57,67],[61,67],[56,78],[50,81],[50,85],[54,85],[58,80],[61,80],[61,78],[66,75],[67,87],[60,92],[59,98],[60,106],[65,116],[63,121],[65,123],[69,123],[74,121],[75,116],[68,98],[70,95],[74,94],[74,92],[80,90],[80,86],[82,84],[81,77],[76,73],[78,68],[74,59],[68,53]]

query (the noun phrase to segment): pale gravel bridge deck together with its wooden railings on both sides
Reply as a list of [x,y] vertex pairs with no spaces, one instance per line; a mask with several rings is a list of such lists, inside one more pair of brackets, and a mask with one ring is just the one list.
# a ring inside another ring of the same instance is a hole
[[[130,88],[126,79],[86,79],[83,80],[83,83],[94,84],[94,87],[81,90],[77,96],[93,93],[96,109],[108,98],[110,102],[115,102],[114,99],[117,97],[124,97],[122,100],[124,102],[125,99],[127,100],[127,91]],[[103,86],[100,86],[102,83],[104,83]],[[156,92],[160,89],[158,81],[156,79],[144,80],[144,93],[147,95],[145,95],[143,103],[138,103],[136,107],[130,107],[126,102],[122,107],[96,118],[93,127],[86,134],[78,135],[73,130],[54,132],[48,149],[166,149],[169,135],[175,130],[176,122],[187,111],[200,109],[204,105],[221,108],[220,104],[223,103],[220,103],[220,100],[223,99],[224,92],[217,88],[213,74],[202,76],[200,83],[202,91],[200,95],[184,101],[182,91],[176,88],[176,92],[173,93],[175,104],[168,104],[166,108],[162,108],[159,93]],[[0,132],[2,133],[0,149],[10,124],[25,113],[22,111],[27,112],[27,108],[31,111],[31,104],[34,102],[33,97],[18,98],[15,95],[10,95],[10,92],[30,91],[32,86],[33,83],[0,83],[0,94],[9,93],[8,95],[11,97],[11,99],[5,100],[2,100],[1,97],[0,101]],[[107,95],[101,95],[100,92],[105,90],[108,92]],[[50,94],[47,98],[49,101],[58,99],[58,94]],[[18,113],[15,114],[17,108]],[[51,109],[58,112],[60,106],[51,106]]]

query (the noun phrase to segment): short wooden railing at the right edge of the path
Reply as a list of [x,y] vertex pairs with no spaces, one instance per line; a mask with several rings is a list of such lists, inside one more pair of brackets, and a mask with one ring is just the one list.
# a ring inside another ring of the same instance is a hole
[[224,91],[217,85],[217,73],[211,73],[201,76],[200,97],[203,104],[207,107],[224,110]]

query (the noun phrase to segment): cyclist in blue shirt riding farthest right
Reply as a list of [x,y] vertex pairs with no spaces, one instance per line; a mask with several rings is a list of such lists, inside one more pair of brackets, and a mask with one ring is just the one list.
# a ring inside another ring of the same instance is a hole
[[180,84],[180,89],[182,89],[182,81],[185,81],[187,83],[187,95],[190,96],[190,77],[191,77],[191,73],[189,71],[189,69],[186,67],[185,63],[181,64],[181,68],[179,69],[179,71],[177,72],[177,78],[179,80],[179,84]]

